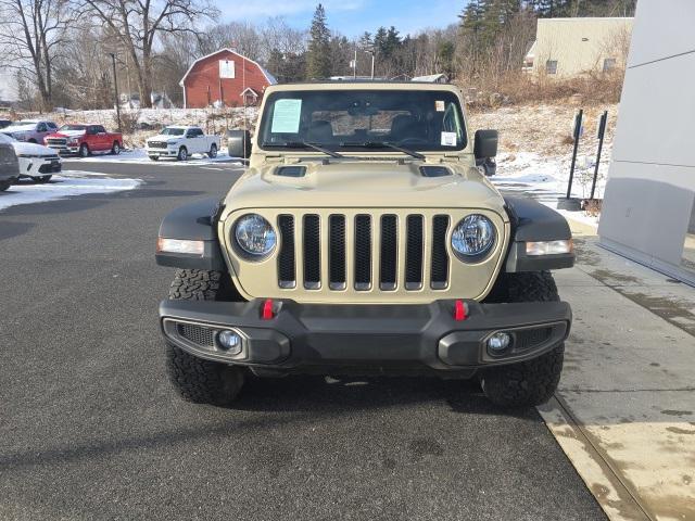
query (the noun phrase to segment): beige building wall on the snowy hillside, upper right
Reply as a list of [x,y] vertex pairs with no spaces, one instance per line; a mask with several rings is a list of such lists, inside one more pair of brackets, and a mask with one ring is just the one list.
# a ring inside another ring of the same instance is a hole
[[603,71],[604,59],[621,61],[620,43],[627,42],[633,18],[540,18],[533,54],[533,72],[545,72],[557,61],[557,77]]

